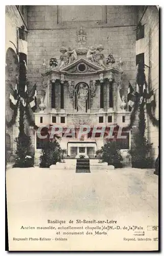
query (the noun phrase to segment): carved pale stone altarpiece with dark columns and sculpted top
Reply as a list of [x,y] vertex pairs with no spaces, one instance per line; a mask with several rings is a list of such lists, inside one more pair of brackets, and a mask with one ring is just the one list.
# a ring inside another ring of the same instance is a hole
[[[62,46],[60,63],[52,57],[49,66],[44,66],[39,110],[34,113],[38,126],[60,125],[63,131],[73,125],[75,137],[61,136],[61,147],[67,149],[67,157],[94,158],[95,153],[105,143],[105,136],[97,133],[92,138],[93,127],[105,132],[115,125],[114,135],[119,127],[129,123],[130,112],[122,83],[122,61],[113,67],[115,58],[112,54],[104,56],[104,47],[89,47],[87,35],[83,28],[77,32],[77,47]],[[90,133],[78,138],[80,125],[89,125]],[[130,132],[126,133],[124,148],[130,146]],[[107,136],[107,133],[106,133]],[[41,146],[35,134],[35,155],[39,159]]]

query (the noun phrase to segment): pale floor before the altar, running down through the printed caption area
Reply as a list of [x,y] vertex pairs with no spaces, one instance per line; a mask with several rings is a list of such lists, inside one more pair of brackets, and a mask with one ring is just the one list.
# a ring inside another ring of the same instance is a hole
[[[39,167],[7,169],[10,249],[157,250],[157,242],[153,239],[157,238],[158,232],[152,231],[152,226],[158,225],[158,176],[153,172],[153,169],[128,167],[90,174]],[[48,224],[48,220],[65,220],[63,225],[67,226],[81,225],[76,220],[114,220],[117,224],[116,230],[107,231],[107,235],[95,235],[94,231],[83,236],[64,236],[62,232],[57,233],[61,224]],[[73,224],[69,224],[70,221]],[[49,225],[57,229],[36,228]],[[143,229],[126,229],[129,226]],[[151,238],[151,242],[124,240],[136,238],[134,231],[143,230],[145,234],[139,238]],[[50,238],[51,241],[14,240],[38,237]]]

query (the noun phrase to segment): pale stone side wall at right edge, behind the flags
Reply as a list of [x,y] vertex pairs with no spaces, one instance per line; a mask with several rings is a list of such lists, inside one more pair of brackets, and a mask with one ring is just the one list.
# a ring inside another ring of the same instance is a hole
[[[143,12],[139,12],[139,19]],[[156,109],[155,117],[159,118],[159,13],[156,6],[148,6],[142,18],[142,24],[145,24],[145,37],[143,52],[145,54],[145,64],[150,67],[145,68],[146,79],[149,90],[154,89]],[[158,155],[158,129],[154,127],[149,117],[147,117],[147,129],[145,135],[153,143],[153,156]]]

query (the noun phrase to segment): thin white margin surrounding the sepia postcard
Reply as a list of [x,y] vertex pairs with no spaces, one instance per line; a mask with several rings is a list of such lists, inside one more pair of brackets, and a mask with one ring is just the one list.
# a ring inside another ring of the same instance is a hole
[[[115,0],[115,2],[109,2],[107,0],[101,0],[101,2],[98,2],[98,1],[88,1],[88,0],[83,0],[83,2],[80,2],[80,5],[155,5],[157,4],[158,6],[160,6],[161,8],[163,7],[163,1],[157,1],[158,3],[154,3],[155,1],[141,1],[141,0],[138,0],[138,1],[118,1],[118,0]],[[32,1],[32,0],[29,0],[29,1],[26,1],[25,3],[23,3],[24,5],[76,5],[77,1],[64,1],[64,0],[60,0],[60,1]],[[1,224],[0,224],[0,227],[1,227],[1,243],[0,243],[0,250],[1,250],[1,255],[6,255],[7,252],[5,252],[5,4],[6,5],[14,5],[14,1],[10,0],[10,1],[6,1],[4,3],[3,1],[3,4],[1,3],[1,8],[0,8],[0,12],[1,12],[1,100],[0,100],[0,107],[1,107],[1,143],[0,143],[0,152],[1,152],[1,158],[0,158],[0,161],[1,161],[1,193],[0,193],[0,196],[1,196],[1,205],[3,207],[1,207]],[[22,1],[17,1],[16,4],[22,4]],[[162,13],[160,13],[160,15],[162,15]],[[162,44],[163,44],[163,22],[162,22],[162,17],[161,17],[161,48],[162,48]],[[162,55],[160,61],[163,62],[163,51],[162,49],[160,49],[160,54]],[[160,84],[160,92],[161,92],[161,116],[160,116],[160,119],[162,120],[161,121],[161,125],[163,125],[163,122],[164,122],[164,118],[163,118],[163,99],[164,99],[164,90],[163,90],[163,84],[162,84],[162,74],[163,74],[163,66],[161,66],[161,70],[160,70],[160,73],[161,73],[161,84]],[[162,137],[162,133],[161,133],[161,137]],[[162,144],[161,146],[163,146],[163,137],[161,138],[162,140],[160,141],[160,143]],[[162,153],[160,154],[160,157],[162,156]],[[162,157],[161,157],[162,158]],[[161,163],[161,173],[163,173],[163,168],[162,168],[162,165],[163,162]],[[161,176],[160,176],[161,177]],[[162,181],[161,181],[161,190],[163,192],[163,189],[162,189],[162,186],[164,185],[164,182],[163,182],[163,178],[164,175],[162,174]],[[162,199],[163,199],[163,193],[162,193]],[[162,202],[163,200],[161,200]],[[163,205],[161,207],[162,209],[162,212],[163,212]],[[161,217],[162,217],[162,214],[161,214]],[[161,222],[162,222],[162,219],[161,219]],[[161,223],[162,224],[162,223]],[[161,246],[163,244],[163,233],[162,233],[162,236],[161,236]],[[34,255],[34,253],[32,252],[29,252],[31,253],[31,255]],[[140,255],[142,255],[143,253],[139,252]],[[18,254],[18,253],[14,253],[14,254]],[[19,255],[23,255],[23,252],[22,253],[19,253]],[[38,253],[40,255],[42,255],[42,253]],[[45,253],[47,254],[47,253]],[[58,253],[56,253],[58,254]],[[63,253],[62,253],[63,254]],[[89,253],[85,253],[86,255],[89,254]],[[117,254],[117,253],[115,253]],[[128,253],[129,254],[129,253]],[[131,254],[131,253],[130,253]],[[156,254],[156,253],[151,253],[152,254]],[[61,255],[61,253],[60,253]]]

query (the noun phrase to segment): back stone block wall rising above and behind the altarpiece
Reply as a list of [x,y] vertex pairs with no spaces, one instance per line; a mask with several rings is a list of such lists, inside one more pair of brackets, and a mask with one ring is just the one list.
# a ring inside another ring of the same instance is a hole
[[[59,49],[62,45],[77,47],[76,32],[82,25],[87,33],[88,46],[102,44],[105,56],[113,53],[116,61],[122,57],[123,84],[128,88],[128,80],[132,84],[135,80],[134,28],[137,23],[138,10],[135,6],[29,6],[30,86],[37,82],[40,98],[43,59],[48,65],[52,56],[59,61]],[[68,97],[66,99],[68,100]]]

